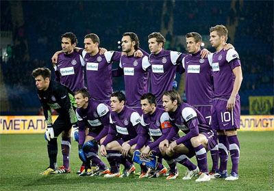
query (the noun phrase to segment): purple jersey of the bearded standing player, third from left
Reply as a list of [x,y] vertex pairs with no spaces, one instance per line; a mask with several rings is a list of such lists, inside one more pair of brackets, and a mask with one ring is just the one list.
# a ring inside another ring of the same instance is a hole
[[123,55],[119,67],[123,69],[125,80],[125,97],[127,106],[140,107],[140,98],[148,92],[149,58],[147,56],[134,57]]

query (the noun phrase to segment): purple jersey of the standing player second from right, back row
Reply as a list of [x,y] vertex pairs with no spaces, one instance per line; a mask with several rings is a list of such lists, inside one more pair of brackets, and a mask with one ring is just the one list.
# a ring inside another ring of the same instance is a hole
[[192,106],[211,105],[213,98],[212,54],[201,59],[201,50],[192,55],[186,55],[182,60],[186,70],[186,102]]

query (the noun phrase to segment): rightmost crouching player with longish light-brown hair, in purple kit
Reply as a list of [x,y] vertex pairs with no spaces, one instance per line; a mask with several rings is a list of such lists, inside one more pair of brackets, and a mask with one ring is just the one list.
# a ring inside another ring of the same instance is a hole
[[[190,157],[196,155],[201,171],[196,181],[210,181],[206,153],[215,147],[216,139],[206,119],[195,108],[182,102],[177,91],[164,92],[162,100],[164,110],[169,113],[173,125],[163,144],[167,147],[166,154],[175,156],[176,153],[186,153]],[[179,130],[184,131],[186,135],[169,144],[169,138]]]

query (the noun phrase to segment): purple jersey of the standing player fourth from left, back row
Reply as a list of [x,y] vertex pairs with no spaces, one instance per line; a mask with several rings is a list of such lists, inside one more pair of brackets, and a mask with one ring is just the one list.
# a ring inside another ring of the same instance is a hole
[[181,63],[184,54],[161,50],[157,55],[149,55],[151,63],[151,93],[157,98],[157,103],[162,103],[162,93],[172,89],[177,67]]

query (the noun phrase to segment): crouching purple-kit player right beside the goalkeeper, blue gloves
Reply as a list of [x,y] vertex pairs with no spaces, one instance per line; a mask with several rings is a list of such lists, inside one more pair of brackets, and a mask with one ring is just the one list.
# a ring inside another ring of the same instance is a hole
[[[102,143],[106,134],[108,134],[110,109],[107,105],[90,99],[86,89],[76,91],[75,100],[79,126],[79,158],[85,163],[85,171],[79,176],[108,174],[110,172],[108,167],[98,156],[99,147],[97,143]],[[87,136],[86,126],[89,128]],[[91,170],[90,160],[92,160],[92,164],[99,167],[97,170]]]

